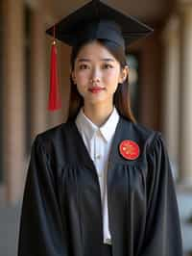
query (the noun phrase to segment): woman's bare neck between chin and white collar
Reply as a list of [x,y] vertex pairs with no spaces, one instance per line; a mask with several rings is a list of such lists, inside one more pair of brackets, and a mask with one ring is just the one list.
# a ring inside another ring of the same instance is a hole
[[113,111],[113,105],[85,105],[84,104],[84,115],[86,115],[95,125],[102,126],[108,119],[108,116]]

